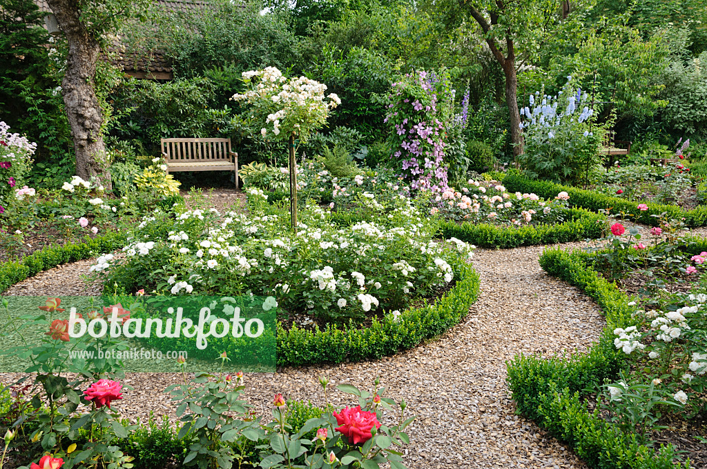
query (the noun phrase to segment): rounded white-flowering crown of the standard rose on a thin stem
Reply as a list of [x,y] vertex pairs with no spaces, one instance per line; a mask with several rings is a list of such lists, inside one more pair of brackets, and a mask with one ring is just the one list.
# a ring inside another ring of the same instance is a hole
[[320,129],[329,109],[341,104],[334,93],[325,95],[327,85],[305,76],[287,78],[275,67],[243,72],[249,86],[231,99],[250,105],[250,115],[263,124],[260,133],[273,140],[287,140],[294,133],[306,141]]

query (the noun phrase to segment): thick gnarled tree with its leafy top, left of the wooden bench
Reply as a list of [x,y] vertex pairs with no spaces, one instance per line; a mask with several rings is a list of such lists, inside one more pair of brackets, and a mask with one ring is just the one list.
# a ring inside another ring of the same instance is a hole
[[69,52],[62,80],[64,107],[76,150],[76,174],[110,188],[103,144],[105,117],[96,93],[96,64],[107,37],[127,18],[146,11],[147,0],[47,0],[66,35]]

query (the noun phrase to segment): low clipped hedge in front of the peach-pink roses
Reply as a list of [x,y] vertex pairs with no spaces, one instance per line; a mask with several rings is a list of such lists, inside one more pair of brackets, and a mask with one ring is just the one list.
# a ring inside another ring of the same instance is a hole
[[606,217],[589,210],[573,208],[570,220],[557,225],[498,227],[489,223],[440,222],[439,232],[445,239],[455,237],[487,248],[512,248],[537,244],[557,244],[602,237]]

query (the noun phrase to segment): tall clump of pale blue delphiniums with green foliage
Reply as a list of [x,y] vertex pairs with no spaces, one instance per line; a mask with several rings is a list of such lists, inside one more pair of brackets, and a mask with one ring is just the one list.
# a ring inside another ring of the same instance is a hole
[[578,183],[601,162],[607,124],[594,121],[590,97],[567,78],[556,96],[537,92],[520,109],[525,153],[519,160],[533,179]]

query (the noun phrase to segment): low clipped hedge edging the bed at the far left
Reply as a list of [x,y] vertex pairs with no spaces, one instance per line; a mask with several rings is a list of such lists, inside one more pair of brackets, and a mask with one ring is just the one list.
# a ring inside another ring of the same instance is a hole
[[25,278],[67,262],[81,261],[115,251],[123,247],[125,235],[111,232],[100,237],[87,237],[85,241],[67,243],[63,246],[49,246],[35,251],[19,261],[0,263],[0,293]]

